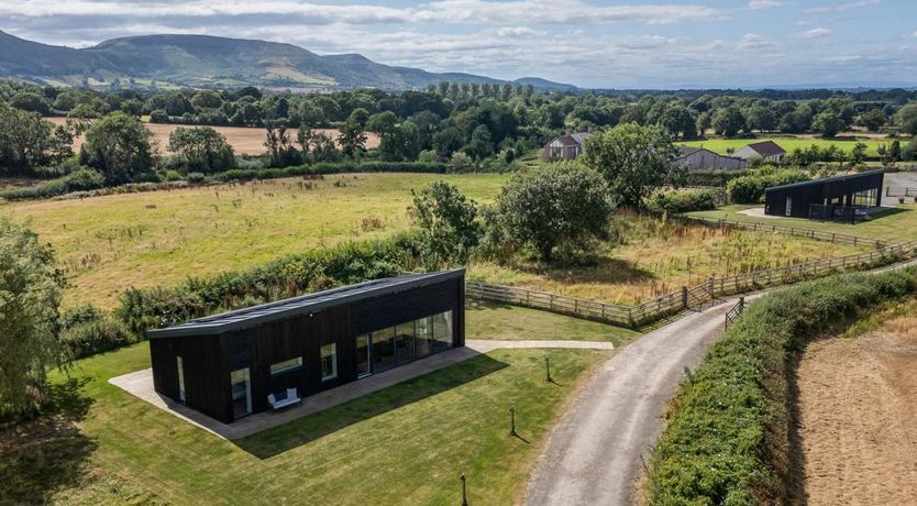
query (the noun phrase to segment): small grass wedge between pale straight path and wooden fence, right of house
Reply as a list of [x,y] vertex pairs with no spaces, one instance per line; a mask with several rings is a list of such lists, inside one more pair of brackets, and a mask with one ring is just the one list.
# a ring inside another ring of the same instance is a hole
[[535,309],[468,300],[465,336],[467,339],[508,341],[607,341],[620,346],[637,339],[640,333]]

